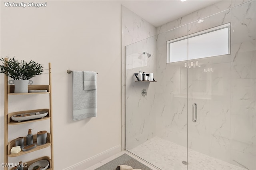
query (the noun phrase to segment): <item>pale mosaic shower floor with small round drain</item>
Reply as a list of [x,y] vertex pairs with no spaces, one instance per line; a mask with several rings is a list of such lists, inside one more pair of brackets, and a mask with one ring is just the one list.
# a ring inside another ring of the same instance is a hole
[[[154,137],[129,151],[162,170],[187,169],[187,165],[182,163],[187,161],[187,148],[159,137]],[[188,150],[188,155],[189,170],[245,170],[194,150]]]

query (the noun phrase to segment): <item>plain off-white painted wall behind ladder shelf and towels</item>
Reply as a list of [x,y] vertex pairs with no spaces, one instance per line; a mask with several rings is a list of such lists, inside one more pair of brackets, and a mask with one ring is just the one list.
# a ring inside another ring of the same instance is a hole
[[[89,160],[102,152],[107,156],[108,151],[121,150],[121,5],[115,1],[44,2],[47,2],[46,7],[22,8],[5,7],[1,1],[0,55],[32,59],[45,68],[51,62],[54,169],[71,169],[76,164],[85,169],[92,165]],[[97,117],[72,121],[72,75],[67,69],[98,72]],[[47,76],[37,76],[34,84],[47,84]],[[1,94],[3,78],[1,74]],[[40,102],[45,99],[37,95],[9,98],[16,102],[10,102],[10,111],[41,107]],[[1,163],[4,162],[3,105],[1,96]],[[35,134],[44,129],[44,124],[48,125],[40,121],[39,124],[9,126],[13,132],[9,140],[26,136],[30,127],[35,128]],[[48,152],[49,148],[45,150],[42,152]],[[25,154],[10,163],[32,160],[42,152]]]

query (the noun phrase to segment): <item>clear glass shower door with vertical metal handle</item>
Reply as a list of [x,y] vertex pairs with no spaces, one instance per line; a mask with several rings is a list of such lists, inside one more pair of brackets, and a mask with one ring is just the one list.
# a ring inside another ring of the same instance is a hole
[[255,1],[188,30],[188,169],[255,169]]

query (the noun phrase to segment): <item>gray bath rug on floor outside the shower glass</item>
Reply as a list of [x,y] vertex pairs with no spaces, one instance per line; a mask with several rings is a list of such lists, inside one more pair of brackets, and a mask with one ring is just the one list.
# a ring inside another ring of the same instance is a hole
[[116,170],[118,165],[129,165],[132,166],[134,169],[142,169],[142,170],[152,170],[148,168],[148,166],[140,163],[138,160],[128,156],[127,154],[123,154],[110,162],[96,168],[95,170]]

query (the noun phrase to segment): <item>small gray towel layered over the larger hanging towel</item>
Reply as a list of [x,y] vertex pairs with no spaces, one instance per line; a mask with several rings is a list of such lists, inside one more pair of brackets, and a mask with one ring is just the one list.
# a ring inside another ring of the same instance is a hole
[[97,87],[97,73],[94,71],[84,72],[84,90],[94,90]]

